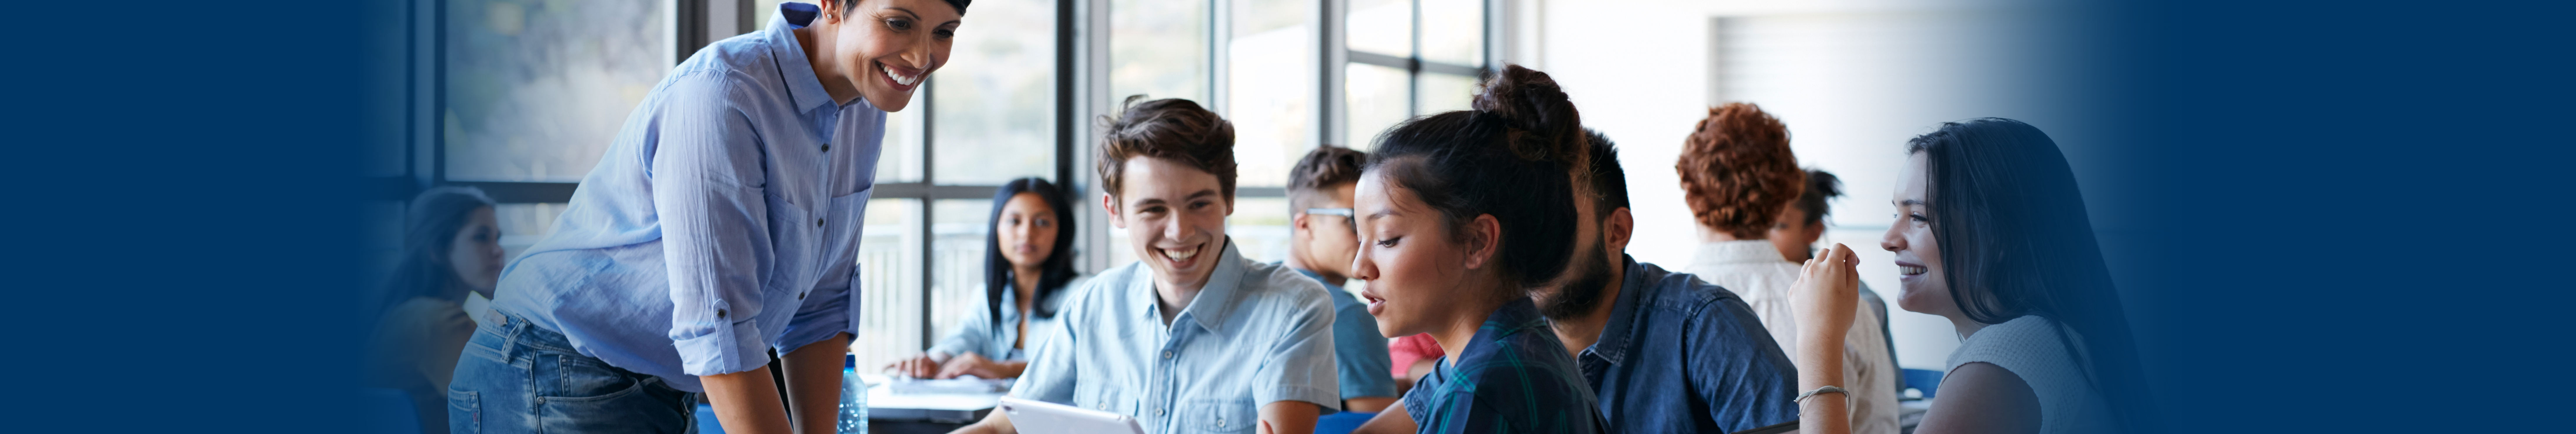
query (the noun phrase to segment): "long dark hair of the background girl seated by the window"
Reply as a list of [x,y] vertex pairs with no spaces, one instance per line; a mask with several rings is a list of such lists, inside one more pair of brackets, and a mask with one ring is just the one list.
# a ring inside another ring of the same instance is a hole
[[[1038,195],[1038,200],[1046,203],[1046,208],[1056,208],[1056,249],[1048,249],[1046,262],[1038,262],[1038,288],[1030,290],[1036,298],[1028,300],[1028,306],[1036,306],[1033,316],[1054,318],[1056,311],[1046,308],[1046,303],[1041,300],[1064,293],[1064,285],[1074,280],[1074,231],[1079,229],[1074,226],[1074,203],[1064,198],[1064,190],[1059,190],[1054,182],[1038,177],[1020,177],[1002,182],[1002,187],[992,193],[992,218],[984,218],[984,223],[1002,221],[1002,208],[1010,205],[1010,198],[1018,198],[1020,193]],[[1002,257],[1002,231],[992,231],[992,226],[987,226],[984,311],[992,313],[989,318],[994,326],[1002,324],[1002,288],[1018,282],[1010,272],[1012,272],[1010,257]]]

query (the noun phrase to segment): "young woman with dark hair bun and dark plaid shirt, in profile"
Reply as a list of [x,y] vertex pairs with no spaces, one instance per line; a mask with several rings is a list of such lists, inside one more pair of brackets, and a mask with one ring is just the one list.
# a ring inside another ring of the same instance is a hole
[[1574,103],[1546,72],[1504,67],[1476,110],[1378,136],[1355,211],[1368,313],[1448,357],[1360,431],[1600,431],[1592,388],[1522,288],[1574,254]]

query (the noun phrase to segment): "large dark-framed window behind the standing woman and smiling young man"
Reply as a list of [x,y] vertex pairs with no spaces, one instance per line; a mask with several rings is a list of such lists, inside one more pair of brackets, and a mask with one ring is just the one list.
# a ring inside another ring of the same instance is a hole
[[[765,28],[778,3],[410,0],[404,139],[371,149],[368,249],[399,249],[417,190],[471,185],[502,203],[502,244],[520,254],[672,64]],[[989,198],[1015,177],[1079,195],[1084,241],[1061,254],[1082,254],[1082,272],[1133,262],[1090,167],[1092,116],[1126,95],[1234,121],[1229,236],[1244,257],[1283,259],[1288,167],[1316,144],[1365,149],[1401,118],[1466,108],[1486,23],[1484,0],[979,0],[948,64],[889,116],[853,352],[891,362],[981,306]]]

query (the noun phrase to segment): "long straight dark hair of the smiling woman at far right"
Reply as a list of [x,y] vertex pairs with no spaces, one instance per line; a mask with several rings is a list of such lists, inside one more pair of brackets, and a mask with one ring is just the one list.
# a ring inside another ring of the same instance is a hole
[[2143,372],[2094,244],[2084,195],[2066,154],[2040,128],[2012,118],[1942,123],[1914,136],[1924,157],[1932,236],[1950,300],[1978,324],[2043,316],[2081,334],[2058,342],[2094,380],[2120,424],[2143,424]]

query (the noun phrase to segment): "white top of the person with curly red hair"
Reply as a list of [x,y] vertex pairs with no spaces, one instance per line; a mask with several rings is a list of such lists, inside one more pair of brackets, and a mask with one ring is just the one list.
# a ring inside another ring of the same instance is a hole
[[[1798,262],[1780,257],[1765,239],[1700,244],[1698,257],[1682,272],[1734,290],[1770,329],[1780,349],[1798,347],[1798,316],[1790,311],[1788,288],[1798,282]],[[1806,370],[1806,367],[1801,367]],[[1888,354],[1886,329],[1878,311],[1860,303],[1852,331],[1842,336],[1842,388],[1852,390],[1855,434],[1896,434],[1896,357]]]

